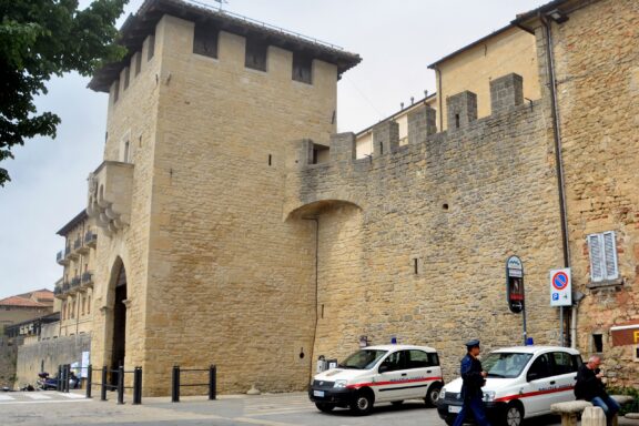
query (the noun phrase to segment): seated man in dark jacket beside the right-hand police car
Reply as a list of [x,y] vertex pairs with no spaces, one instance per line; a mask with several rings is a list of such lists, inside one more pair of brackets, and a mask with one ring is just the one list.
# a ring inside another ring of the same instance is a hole
[[592,405],[601,407],[606,414],[606,420],[610,425],[621,407],[606,392],[606,384],[601,381],[604,373],[599,369],[599,364],[601,364],[601,358],[592,355],[588,358],[588,363],[579,366],[577,383],[575,384],[575,397],[589,400]]

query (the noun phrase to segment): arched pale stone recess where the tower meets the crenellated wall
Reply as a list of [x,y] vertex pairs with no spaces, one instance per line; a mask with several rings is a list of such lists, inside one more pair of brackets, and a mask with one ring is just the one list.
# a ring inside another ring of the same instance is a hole
[[295,209],[287,221],[306,222],[308,226],[307,245],[301,252],[312,256],[306,264],[314,266],[310,274],[314,326],[307,336],[312,348],[307,359],[310,372],[315,372],[320,354],[333,354],[341,347],[351,351],[364,332],[361,318],[367,312],[364,210],[349,201],[322,200]]

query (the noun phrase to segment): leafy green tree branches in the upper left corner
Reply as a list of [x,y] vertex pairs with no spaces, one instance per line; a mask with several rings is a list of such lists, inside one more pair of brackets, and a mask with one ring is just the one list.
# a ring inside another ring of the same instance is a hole
[[[0,162],[26,139],[55,138],[60,118],[33,103],[52,75],[91,75],[125,54],[114,27],[125,3],[94,0],[79,10],[77,0],[0,0]],[[8,181],[0,168],[0,186]]]

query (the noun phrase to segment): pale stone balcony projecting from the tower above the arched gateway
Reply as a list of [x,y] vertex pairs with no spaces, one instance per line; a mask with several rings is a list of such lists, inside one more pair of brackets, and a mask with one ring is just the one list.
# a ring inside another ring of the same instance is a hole
[[133,164],[105,161],[89,175],[87,214],[106,236],[129,224],[132,189]]

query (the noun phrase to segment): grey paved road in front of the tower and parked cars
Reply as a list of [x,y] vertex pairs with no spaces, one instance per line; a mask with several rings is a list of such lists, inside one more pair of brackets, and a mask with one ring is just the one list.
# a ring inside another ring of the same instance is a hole
[[[0,424],[41,425],[123,425],[123,426],[444,426],[435,408],[423,402],[406,402],[402,407],[379,405],[371,416],[352,416],[346,409],[331,414],[318,412],[305,393],[229,395],[217,400],[184,397],[143,398],[142,405],[118,405],[114,393],[108,402],[84,399],[81,392],[0,393]],[[525,426],[558,426],[558,417],[532,419]]]

